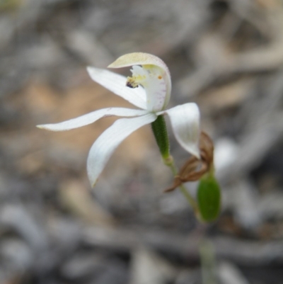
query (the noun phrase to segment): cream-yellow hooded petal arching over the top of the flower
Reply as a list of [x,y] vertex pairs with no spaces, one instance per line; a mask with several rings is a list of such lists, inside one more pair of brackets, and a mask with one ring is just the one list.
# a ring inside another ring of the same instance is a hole
[[116,59],[115,62],[110,64],[108,68],[122,68],[134,65],[141,65],[143,67],[150,67],[152,65],[155,65],[161,68],[162,76],[166,84],[166,98],[163,105],[164,107],[167,106],[171,96],[171,75],[168,67],[159,57],[150,55],[149,53],[133,52],[127,55],[122,55],[121,57]]

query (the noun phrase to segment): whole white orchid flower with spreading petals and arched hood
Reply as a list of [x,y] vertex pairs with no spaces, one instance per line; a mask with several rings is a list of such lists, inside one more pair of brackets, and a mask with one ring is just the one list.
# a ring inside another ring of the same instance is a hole
[[[88,67],[87,70],[93,81],[117,96],[125,98],[141,110],[103,108],[62,123],[37,125],[46,130],[64,131],[88,125],[100,118],[112,115],[132,117],[116,120],[91,147],[88,154],[87,171],[92,186],[95,186],[98,176],[118,145],[139,127],[153,123],[158,115],[167,114],[180,145],[196,157],[200,155],[198,147],[200,112],[197,105],[185,103],[165,110],[171,96],[171,76],[166,64],[154,55],[134,52],[119,57],[108,67],[129,66],[132,66],[132,77],[128,78],[95,67]],[[141,87],[137,88],[138,86]]]

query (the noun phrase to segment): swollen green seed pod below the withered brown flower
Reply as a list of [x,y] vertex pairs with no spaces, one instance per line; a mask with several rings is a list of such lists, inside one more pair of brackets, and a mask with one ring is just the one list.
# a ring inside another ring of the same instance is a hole
[[221,191],[212,174],[201,178],[197,188],[197,203],[204,222],[214,221],[221,208]]

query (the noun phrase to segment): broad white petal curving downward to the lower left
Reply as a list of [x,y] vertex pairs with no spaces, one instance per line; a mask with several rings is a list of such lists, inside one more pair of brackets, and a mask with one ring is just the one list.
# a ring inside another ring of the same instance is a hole
[[156,115],[153,113],[138,118],[121,118],[98,137],[91,147],[87,161],[88,178],[92,186],[95,186],[98,176],[119,144],[139,127],[152,123],[154,120]]

